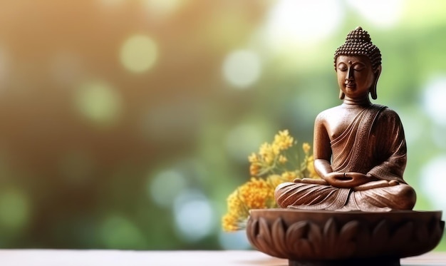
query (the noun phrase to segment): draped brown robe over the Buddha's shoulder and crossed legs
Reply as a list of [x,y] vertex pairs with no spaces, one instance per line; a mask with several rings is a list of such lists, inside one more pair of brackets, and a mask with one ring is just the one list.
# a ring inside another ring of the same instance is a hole
[[304,210],[410,210],[415,190],[403,180],[406,143],[398,114],[371,105],[337,138],[331,140],[333,172],[370,173],[378,180],[396,180],[398,185],[358,190],[331,185],[282,183],[276,188],[282,208]]

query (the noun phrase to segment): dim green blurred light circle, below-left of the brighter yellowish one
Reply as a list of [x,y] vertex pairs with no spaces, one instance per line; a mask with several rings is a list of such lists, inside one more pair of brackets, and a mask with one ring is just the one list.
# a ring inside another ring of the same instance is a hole
[[123,101],[118,91],[108,83],[88,81],[76,92],[76,107],[85,118],[100,126],[118,121],[123,111]]

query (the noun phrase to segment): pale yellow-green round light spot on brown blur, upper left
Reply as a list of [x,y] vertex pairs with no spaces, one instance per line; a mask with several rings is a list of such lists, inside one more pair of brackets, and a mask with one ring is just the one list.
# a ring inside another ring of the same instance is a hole
[[125,40],[120,51],[120,61],[123,66],[135,73],[145,72],[152,68],[157,57],[157,44],[146,35],[130,36]]

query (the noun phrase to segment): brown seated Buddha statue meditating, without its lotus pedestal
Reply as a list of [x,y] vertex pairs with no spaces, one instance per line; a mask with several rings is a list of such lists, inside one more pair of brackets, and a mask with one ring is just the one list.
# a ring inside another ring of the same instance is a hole
[[282,183],[276,202],[302,210],[411,210],[416,195],[403,180],[403,125],[395,111],[369,98],[377,98],[381,54],[367,31],[358,27],[348,34],[334,67],[343,103],[319,113],[314,123],[314,168],[321,179]]

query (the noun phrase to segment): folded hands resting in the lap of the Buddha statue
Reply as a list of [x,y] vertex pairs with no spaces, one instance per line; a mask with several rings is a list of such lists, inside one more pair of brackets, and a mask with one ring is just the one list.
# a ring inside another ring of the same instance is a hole
[[373,181],[372,175],[356,172],[332,172],[325,175],[323,179],[335,188],[355,188],[358,185]]

